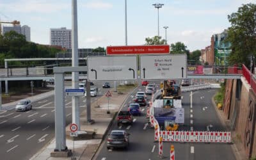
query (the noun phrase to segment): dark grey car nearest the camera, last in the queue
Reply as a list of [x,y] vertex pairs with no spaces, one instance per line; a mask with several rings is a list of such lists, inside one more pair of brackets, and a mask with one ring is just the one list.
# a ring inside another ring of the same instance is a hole
[[108,135],[107,149],[127,148],[129,146],[129,133],[124,130],[113,130]]

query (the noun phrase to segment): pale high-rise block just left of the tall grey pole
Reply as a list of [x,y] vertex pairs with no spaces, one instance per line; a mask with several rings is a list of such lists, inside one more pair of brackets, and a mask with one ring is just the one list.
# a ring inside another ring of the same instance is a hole
[[71,49],[71,29],[51,28],[51,45],[60,45],[63,48]]

